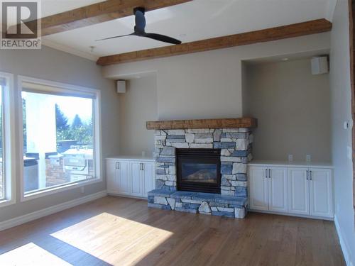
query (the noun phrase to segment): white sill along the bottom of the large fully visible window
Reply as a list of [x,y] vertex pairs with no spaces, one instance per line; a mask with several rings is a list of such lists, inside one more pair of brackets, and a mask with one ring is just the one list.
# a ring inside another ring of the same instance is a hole
[[32,192],[31,194],[22,194],[21,195],[21,202],[30,201],[32,199],[38,199],[42,196],[48,196],[48,195],[59,193],[59,192],[65,192],[70,189],[77,189],[78,187],[84,187],[84,186],[88,186],[89,184],[96,184],[99,182],[102,182],[102,178],[96,178],[96,179],[91,179],[91,180],[82,181],[82,182],[65,184],[60,187],[53,187],[53,188],[49,188],[49,189],[43,189],[38,192]]

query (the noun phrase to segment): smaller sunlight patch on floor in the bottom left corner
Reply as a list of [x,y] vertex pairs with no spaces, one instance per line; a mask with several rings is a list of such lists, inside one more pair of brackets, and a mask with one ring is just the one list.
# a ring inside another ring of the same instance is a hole
[[0,265],[67,266],[71,264],[53,255],[52,253],[49,253],[47,250],[38,247],[38,245],[35,245],[34,243],[28,243],[0,255]]

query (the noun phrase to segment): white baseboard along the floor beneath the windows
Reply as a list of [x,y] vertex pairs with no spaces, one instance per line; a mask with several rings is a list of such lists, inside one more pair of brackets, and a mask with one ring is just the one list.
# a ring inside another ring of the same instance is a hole
[[29,221],[33,221],[35,219],[41,218],[43,216],[48,216],[50,214],[55,214],[58,211],[63,211],[65,209],[70,209],[72,207],[75,207],[80,204],[87,203],[89,201],[93,201],[95,199],[102,198],[104,196],[107,196],[107,191],[103,190],[102,192],[97,192],[95,194],[90,194],[87,196],[82,196],[79,199],[73,199],[72,201],[67,201],[62,204],[58,204],[55,206],[51,206],[45,209],[41,209],[39,211],[33,211],[30,214],[25,214],[23,216],[18,216],[16,218],[12,218],[7,221],[0,222],[0,231],[3,231],[5,229],[14,227],[14,226],[19,226],[23,223],[27,223]]

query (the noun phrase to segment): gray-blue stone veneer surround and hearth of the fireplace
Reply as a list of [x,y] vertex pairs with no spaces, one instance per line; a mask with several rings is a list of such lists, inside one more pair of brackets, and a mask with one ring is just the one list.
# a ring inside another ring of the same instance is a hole
[[[148,206],[244,218],[252,142],[250,128],[156,130],[155,190],[148,194]],[[177,192],[176,148],[221,150],[221,194]]]

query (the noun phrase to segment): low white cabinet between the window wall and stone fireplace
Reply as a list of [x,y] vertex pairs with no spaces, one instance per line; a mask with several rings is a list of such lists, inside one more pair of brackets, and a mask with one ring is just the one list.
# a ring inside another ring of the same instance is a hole
[[155,187],[154,162],[107,159],[107,193],[146,198]]

